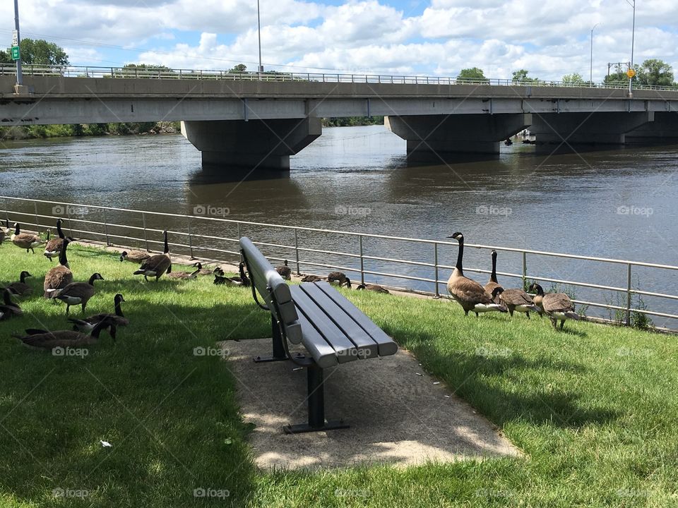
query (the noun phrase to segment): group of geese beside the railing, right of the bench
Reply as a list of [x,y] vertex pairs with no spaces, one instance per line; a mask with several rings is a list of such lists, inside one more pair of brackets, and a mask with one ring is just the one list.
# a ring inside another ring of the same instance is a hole
[[459,243],[457,264],[447,282],[447,290],[452,298],[460,304],[465,315],[469,312],[508,312],[513,317],[514,312],[525,313],[530,317],[530,312],[546,314],[554,329],[560,321],[560,329],[563,329],[566,320],[578,320],[579,315],[574,312],[574,305],[569,296],[564,293],[544,293],[539,284],[531,284],[528,291],[535,293],[532,297],[523,289],[504,289],[496,279],[496,250],[492,250],[492,274],[489,282],[481,286],[475,280],[464,275],[464,236],[457,232],[448,238],[454,238]]

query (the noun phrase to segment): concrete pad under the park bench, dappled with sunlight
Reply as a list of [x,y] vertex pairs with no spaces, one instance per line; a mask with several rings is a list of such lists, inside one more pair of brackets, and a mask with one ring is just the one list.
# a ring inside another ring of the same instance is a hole
[[325,416],[343,418],[350,428],[286,435],[283,425],[307,422],[306,370],[291,361],[254,363],[270,354],[270,339],[222,347],[229,350],[244,420],[256,426],[251,444],[261,468],[410,466],[521,454],[403,350],[325,370]]

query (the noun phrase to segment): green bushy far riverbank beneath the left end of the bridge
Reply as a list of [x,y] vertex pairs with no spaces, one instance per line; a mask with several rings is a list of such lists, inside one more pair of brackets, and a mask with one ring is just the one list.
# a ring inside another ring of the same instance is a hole
[[0,127],[0,139],[25,140],[38,138],[69,138],[101,135],[170,134],[180,131],[179,122],[141,123],[64,123]]

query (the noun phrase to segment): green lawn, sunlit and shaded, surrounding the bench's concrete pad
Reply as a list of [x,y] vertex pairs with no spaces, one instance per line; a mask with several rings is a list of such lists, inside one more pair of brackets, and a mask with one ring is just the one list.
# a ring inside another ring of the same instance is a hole
[[[36,289],[24,317],[0,322],[1,507],[678,506],[675,337],[585,322],[556,332],[538,317],[342,290],[525,456],[261,472],[227,363],[193,352],[270,336],[250,291],[209,277],[143,283],[112,253],[69,252],[76,279],[106,279],[88,313],[121,292],[131,325],[85,358],[25,348],[10,334],[63,329],[65,308],[40,298],[47,260],[0,247],[0,278],[26,269]],[[88,492],[55,498],[58,488]],[[229,496],[196,500],[196,488]]]

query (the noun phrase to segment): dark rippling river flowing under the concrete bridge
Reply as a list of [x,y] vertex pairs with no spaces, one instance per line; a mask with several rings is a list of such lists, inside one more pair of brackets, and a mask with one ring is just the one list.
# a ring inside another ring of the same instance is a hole
[[[230,219],[418,238],[463,231],[468,243],[678,265],[677,146],[533,150],[515,143],[490,161],[408,166],[405,142],[383,126],[325,128],[292,157],[289,178],[239,183],[204,174],[199,152],[181,135],[27,140],[0,145],[0,183],[4,195],[22,198],[180,214],[202,205],[221,207]],[[330,238],[337,248],[344,240]],[[411,245],[374,248],[383,257],[432,261],[432,252]],[[440,262],[453,265],[455,255],[445,248]],[[468,250],[467,265],[488,268],[487,252]],[[626,285],[625,266],[554,258],[528,265],[547,277]],[[500,254],[500,271],[520,269],[515,255]],[[678,274],[639,269],[638,282],[676,294]],[[656,308],[678,313],[666,301]]]

